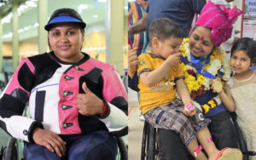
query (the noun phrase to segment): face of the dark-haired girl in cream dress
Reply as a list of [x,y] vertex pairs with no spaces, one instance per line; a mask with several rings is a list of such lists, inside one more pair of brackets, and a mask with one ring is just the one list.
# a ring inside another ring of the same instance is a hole
[[230,66],[236,74],[247,73],[247,71],[250,71],[251,59],[246,51],[235,50],[230,58]]

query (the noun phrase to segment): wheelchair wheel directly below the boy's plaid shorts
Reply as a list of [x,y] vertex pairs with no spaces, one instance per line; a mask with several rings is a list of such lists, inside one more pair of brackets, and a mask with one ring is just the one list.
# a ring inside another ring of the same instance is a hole
[[158,145],[156,143],[156,129],[150,126],[147,122],[144,123],[143,128],[143,144],[141,159],[156,160],[158,159]]

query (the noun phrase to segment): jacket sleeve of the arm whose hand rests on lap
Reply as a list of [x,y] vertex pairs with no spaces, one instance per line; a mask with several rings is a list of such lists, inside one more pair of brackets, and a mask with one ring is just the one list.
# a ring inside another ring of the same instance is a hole
[[32,142],[33,129],[43,124],[22,113],[30,97],[35,80],[35,68],[28,59],[22,59],[0,99],[1,127],[16,139]]

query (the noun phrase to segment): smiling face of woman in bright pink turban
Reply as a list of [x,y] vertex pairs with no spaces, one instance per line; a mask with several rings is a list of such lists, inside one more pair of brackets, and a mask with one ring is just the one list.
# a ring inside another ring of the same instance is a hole
[[210,29],[204,26],[196,26],[189,37],[191,54],[195,57],[206,56],[211,54],[213,47]]

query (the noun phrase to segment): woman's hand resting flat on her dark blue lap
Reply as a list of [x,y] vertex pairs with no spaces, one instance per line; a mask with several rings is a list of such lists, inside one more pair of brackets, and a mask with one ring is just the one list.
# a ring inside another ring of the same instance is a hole
[[37,128],[33,131],[32,139],[36,144],[46,147],[49,151],[55,151],[58,157],[65,156],[67,143],[58,134]]

